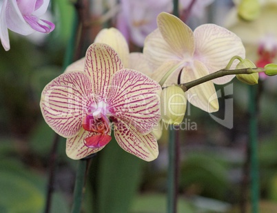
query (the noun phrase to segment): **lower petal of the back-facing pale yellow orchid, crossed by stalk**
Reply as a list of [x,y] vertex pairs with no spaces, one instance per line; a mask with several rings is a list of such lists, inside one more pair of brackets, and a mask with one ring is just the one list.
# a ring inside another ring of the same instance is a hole
[[[205,65],[200,61],[194,61],[194,65],[187,66],[182,70],[181,83],[187,83],[189,81],[194,81],[201,77],[204,77],[209,72]],[[187,92],[187,101],[195,105],[197,108],[204,110],[206,112],[216,112],[218,111],[218,99],[216,95],[216,90],[214,88],[214,83],[212,81],[207,81],[190,88]]]

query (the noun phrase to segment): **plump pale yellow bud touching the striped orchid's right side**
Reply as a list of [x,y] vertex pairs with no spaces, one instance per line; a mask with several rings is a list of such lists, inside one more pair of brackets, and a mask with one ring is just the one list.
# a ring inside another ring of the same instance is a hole
[[171,85],[161,92],[161,115],[165,123],[179,125],[186,108],[185,92],[178,85]]

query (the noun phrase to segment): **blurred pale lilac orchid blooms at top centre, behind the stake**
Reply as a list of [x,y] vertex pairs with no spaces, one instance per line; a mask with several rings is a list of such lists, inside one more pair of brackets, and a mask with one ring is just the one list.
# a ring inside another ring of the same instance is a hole
[[[181,13],[187,10],[191,1],[179,1]],[[214,0],[196,0],[189,15],[201,18],[212,1]],[[116,28],[123,33],[127,41],[132,40],[134,44],[143,47],[145,37],[157,28],[158,14],[172,10],[172,0],[121,0],[121,12],[116,20]]]

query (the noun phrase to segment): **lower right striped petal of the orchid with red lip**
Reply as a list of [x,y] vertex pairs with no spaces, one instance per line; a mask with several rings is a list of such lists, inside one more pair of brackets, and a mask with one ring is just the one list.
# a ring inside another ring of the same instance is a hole
[[157,158],[158,143],[152,133],[143,135],[132,125],[126,125],[123,121],[117,121],[114,125],[116,126],[114,137],[123,150],[144,161],[153,161]]

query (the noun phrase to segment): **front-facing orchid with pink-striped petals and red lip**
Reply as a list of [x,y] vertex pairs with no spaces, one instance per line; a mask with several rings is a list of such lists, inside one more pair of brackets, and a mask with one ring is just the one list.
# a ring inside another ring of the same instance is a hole
[[160,92],[156,81],[123,68],[109,45],[94,43],[86,52],[83,71],[65,72],[45,86],[41,112],[46,123],[67,139],[71,159],[102,150],[112,139],[113,128],[123,150],[152,161],[158,156],[152,128],[161,119]]

